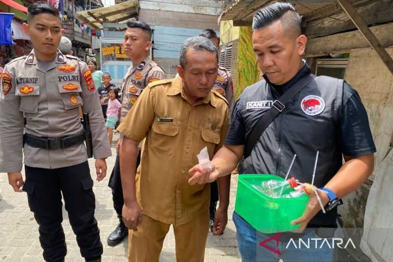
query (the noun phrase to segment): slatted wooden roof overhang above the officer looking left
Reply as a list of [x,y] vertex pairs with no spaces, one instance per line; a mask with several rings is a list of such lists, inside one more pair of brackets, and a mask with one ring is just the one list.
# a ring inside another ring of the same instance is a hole
[[103,23],[121,23],[136,17],[139,7],[138,0],[129,0],[112,6],[76,12],[75,18],[91,29],[102,30]]

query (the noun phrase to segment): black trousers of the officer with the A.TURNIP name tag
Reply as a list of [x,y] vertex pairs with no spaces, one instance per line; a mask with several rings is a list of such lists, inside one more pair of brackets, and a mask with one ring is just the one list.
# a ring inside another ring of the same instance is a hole
[[100,230],[94,218],[95,196],[87,161],[58,169],[25,166],[25,172],[23,191],[28,193],[28,206],[39,225],[44,260],[62,261],[67,254],[61,226],[61,193],[82,257],[87,260],[99,258],[103,248]]

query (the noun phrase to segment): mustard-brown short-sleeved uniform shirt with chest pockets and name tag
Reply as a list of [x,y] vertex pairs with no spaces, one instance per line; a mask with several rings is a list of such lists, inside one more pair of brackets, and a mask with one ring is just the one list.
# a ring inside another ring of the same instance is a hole
[[210,185],[190,186],[188,171],[203,147],[213,157],[224,143],[228,106],[223,96],[212,91],[192,106],[181,78],[158,81],[142,92],[118,129],[133,141],[146,137],[136,177],[144,214],[182,225],[208,210]]

